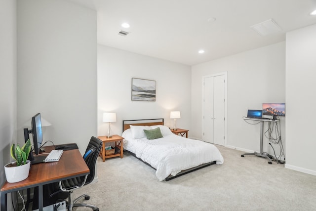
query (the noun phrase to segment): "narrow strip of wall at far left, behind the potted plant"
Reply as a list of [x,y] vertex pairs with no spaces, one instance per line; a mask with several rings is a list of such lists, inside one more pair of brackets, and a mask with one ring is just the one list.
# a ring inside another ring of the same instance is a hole
[[[5,181],[3,166],[12,161],[10,146],[16,143],[17,70],[16,0],[0,1],[0,185]],[[1,196],[3,197],[3,196]],[[15,198],[15,197],[14,197]],[[15,199],[13,199],[15,200]],[[11,195],[8,195],[11,201]],[[8,210],[13,210],[11,203]]]

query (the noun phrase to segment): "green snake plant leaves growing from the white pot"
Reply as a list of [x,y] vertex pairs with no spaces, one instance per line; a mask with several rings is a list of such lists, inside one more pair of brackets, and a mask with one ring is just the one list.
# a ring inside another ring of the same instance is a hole
[[31,141],[28,141],[21,148],[18,144],[12,144],[11,146],[11,157],[16,161],[16,166],[22,166],[26,164],[26,160],[28,159],[29,153],[31,151]]

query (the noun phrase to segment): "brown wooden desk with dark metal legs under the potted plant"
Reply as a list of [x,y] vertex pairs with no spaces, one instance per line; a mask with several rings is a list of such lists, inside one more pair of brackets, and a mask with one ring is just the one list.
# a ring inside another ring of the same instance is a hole
[[[50,152],[53,146],[46,146]],[[8,183],[1,187],[1,211],[7,210],[7,193],[32,187],[39,187],[39,211],[43,209],[43,185],[64,179],[89,174],[90,170],[84,162],[79,149],[64,151],[58,162],[48,162],[31,165],[29,177],[23,181]]]

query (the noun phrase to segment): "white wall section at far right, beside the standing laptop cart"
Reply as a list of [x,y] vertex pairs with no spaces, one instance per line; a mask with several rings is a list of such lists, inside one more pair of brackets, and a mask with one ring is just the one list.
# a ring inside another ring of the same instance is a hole
[[316,25],[286,34],[286,168],[316,175]]

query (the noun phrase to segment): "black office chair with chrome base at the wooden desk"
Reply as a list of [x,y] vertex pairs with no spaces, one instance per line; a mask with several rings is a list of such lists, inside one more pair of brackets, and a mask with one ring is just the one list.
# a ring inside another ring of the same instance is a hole
[[[94,179],[95,165],[96,165],[101,147],[102,147],[102,141],[92,136],[87,146],[87,149],[85,150],[85,154],[83,156],[83,159],[85,160],[87,166],[90,169],[90,174],[59,181],[58,183],[55,183],[59,185],[60,190],[51,194],[50,196],[53,197],[56,194],[61,195],[63,192],[68,192],[67,206],[69,206],[68,208],[69,211],[71,211],[74,207],[89,207],[89,208],[92,208],[94,211],[99,211],[99,208],[97,208],[94,205],[76,203],[82,197],[84,197],[85,200],[89,200],[90,196],[88,196],[87,194],[83,194],[73,201],[71,199],[71,194],[73,193],[74,190],[82,187],[83,185],[89,184]],[[59,199],[63,199],[62,195]]]

